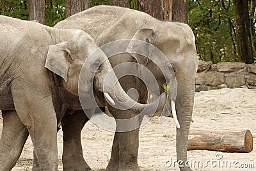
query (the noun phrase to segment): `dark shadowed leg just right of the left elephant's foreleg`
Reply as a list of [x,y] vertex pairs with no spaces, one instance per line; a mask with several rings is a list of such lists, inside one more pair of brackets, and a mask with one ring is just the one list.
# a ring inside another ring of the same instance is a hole
[[92,170],[83,158],[81,145],[81,131],[87,121],[89,119],[83,110],[77,110],[72,115],[65,114],[61,121],[64,143],[63,170]]

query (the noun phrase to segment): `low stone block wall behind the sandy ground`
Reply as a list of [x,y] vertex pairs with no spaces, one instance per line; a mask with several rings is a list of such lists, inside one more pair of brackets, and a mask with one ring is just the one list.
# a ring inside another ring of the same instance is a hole
[[256,64],[199,61],[196,91],[228,88],[256,88]]

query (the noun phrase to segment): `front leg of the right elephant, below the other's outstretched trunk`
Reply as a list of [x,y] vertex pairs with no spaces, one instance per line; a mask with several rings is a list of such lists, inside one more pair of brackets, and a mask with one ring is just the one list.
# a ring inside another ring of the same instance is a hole
[[[118,110],[111,108],[109,110],[116,119],[121,119],[122,122],[116,123],[116,130],[120,132],[115,133],[113,142],[111,160],[106,170],[140,170],[138,167],[138,147],[139,147],[139,129],[134,126],[139,126],[139,117],[134,117],[129,111]],[[127,119],[127,120],[125,120]],[[126,124],[124,126],[124,124]],[[136,128],[131,131],[125,131],[125,128]],[[122,130],[124,130],[122,132]],[[116,168],[118,167],[118,168]]]

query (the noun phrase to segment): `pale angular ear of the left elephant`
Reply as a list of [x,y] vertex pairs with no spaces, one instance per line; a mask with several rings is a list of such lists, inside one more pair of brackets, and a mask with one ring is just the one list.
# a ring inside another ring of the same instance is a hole
[[45,61],[45,68],[60,75],[67,82],[69,57],[71,56],[68,50],[68,42],[64,41],[56,45],[51,45]]

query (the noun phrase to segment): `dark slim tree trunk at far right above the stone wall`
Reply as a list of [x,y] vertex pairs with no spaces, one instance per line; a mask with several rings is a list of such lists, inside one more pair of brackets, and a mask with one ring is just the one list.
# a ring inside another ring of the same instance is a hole
[[250,34],[250,17],[247,0],[234,0],[234,14],[236,20],[236,43],[238,61],[253,63],[252,40]]

